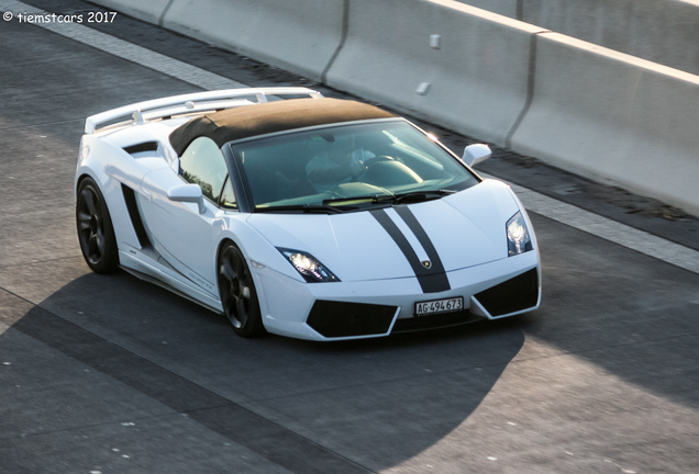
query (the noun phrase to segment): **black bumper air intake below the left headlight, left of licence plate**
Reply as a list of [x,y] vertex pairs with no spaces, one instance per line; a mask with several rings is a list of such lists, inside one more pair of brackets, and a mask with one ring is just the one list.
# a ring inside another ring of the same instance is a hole
[[326,338],[381,335],[388,332],[397,311],[396,306],[319,300],[307,323]]

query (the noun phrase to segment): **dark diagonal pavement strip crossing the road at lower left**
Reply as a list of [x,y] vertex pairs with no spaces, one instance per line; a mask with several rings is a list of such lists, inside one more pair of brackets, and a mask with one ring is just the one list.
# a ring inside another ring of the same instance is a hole
[[[175,413],[187,415],[188,418],[209,430],[281,466],[285,472],[299,474],[369,474],[371,472],[273,419],[257,415],[197,382],[70,323],[63,316],[35,306],[23,296],[0,289],[0,300],[10,308],[0,324],[0,332],[5,329],[5,326],[12,327],[13,330],[101,372],[169,407]],[[160,418],[170,416],[171,414],[165,413],[160,415]],[[7,430],[3,429],[3,433],[4,431]]]

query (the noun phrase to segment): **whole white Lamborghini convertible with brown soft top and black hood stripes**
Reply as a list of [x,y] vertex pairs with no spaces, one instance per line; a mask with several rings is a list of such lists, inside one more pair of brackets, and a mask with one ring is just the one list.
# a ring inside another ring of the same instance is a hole
[[387,336],[529,312],[532,224],[499,181],[378,108],[235,89],[92,115],[75,176],[87,264],[225,314],[235,332]]

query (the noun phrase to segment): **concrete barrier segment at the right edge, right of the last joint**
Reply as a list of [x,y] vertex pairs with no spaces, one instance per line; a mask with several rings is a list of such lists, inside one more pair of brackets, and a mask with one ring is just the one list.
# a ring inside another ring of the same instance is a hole
[[556,33],[537,36],[511,148],[699,215],[699,77]]

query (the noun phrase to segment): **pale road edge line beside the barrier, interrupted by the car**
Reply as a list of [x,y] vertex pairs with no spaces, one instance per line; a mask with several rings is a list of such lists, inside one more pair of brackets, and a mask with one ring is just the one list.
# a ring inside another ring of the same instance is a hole
[[[41,15],[48,13],[24,2],[11,0],[0,0],[0,10],[2,12],[10,11],[14,14]],[[249,87],[82,24],[33,24],[202,89],[215,90]],[[480,174],[484,178],[496,178],[486,173]],[[511,184],[511,187],[524,206],[533,213],[699,274],[699,251],[548,198],[531,189],[515,184]]]

